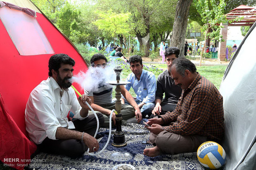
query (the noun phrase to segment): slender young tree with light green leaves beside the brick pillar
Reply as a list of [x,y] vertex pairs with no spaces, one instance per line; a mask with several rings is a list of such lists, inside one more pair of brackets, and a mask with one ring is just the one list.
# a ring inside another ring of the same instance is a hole
[[[198,13],[201,15],[202,22],[204,23],[202,32],[205,32],[204,48],[206,44],[206,36],[209,36],[213,40],[223,41],[222,35],[220,34],[220,23],[228,22],[223,14],[225,9],[224,0],[194,0],[194,4],[197,8]],[[213,29],[212,29],[213,28]],[[212,30],[212,32],[209,32]],[[201,52],[201,57],[204,53],[204,48]],[[200,57],[200,66],[201,66]]]

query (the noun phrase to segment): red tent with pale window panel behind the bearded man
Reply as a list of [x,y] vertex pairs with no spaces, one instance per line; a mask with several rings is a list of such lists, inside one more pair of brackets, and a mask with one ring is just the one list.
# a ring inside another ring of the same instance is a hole
[[[20,133],[27,136],[26,102],[33,88],[47,79],[49,58],[57,53],[69,55],[76,61],[74,74],[88,69],[88,64],[71,41],[31,1],[4,1],[0,1],[0,110],[6,112],[0,114],[9,114]],[[3,121],[2,116],[0,120]],[[12,133],[13,129],[9,132]],[[10,137],[5,135],[0,132],[2,146],[5,138]],[[4,151],[0,151],[0,156],[5,162],[6,159],[2,158]]]

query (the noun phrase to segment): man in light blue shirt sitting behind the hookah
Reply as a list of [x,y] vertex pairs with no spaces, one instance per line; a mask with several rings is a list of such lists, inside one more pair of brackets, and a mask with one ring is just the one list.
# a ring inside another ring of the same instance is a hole
[[[126,90],[133,90],[136,94],[136,103],[142,113],[142,118],[149,117],[154,108],[154,100],[156,94],[156,78],[155,75],[143,69],[142,58],[139,55],[133,55],[129,58],[130,69],[132,73],[128,75],[126,81],[130,82],[126,85]],[[122,102],[128,103],[123,98]]]

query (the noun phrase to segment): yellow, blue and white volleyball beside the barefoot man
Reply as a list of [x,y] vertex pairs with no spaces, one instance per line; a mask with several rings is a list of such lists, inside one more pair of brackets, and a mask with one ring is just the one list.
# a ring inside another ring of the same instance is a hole
[[217,169],[224,165],[226,153],[218,143],[207,141],[197,149],[197,158],[204,167]]

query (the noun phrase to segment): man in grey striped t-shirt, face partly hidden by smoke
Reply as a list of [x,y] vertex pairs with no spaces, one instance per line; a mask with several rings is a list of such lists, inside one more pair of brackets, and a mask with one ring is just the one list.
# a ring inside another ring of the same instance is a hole
[[[102,54],[95,54],[92,56],[90,60],[92,67],[106,67],[107,65],[107,58]],[[104,75],[103,75],[104,76]],[[127,101],[129,101],[130,105],[122,104],[121,114],[123,120],[122,124],[126,124],[127,122],[132,121],[134,116],[136,116],[137,122],[140,122],[142,119],[142,115],[140,113],[140,108],[138,107],[137,103],[134,101],[133,96],[126,90],[126,88],[121,85],[121,94],[126,97]],[[88,91],[85,89],[85,94],[92,100],[92,109],[95,111],[99,111],[103,114],[105,123],[104,127],[109,127],[109,115],[112,109],[115,109],[115,103],[112,103],[112,86],[103,82],[97,90],[95,91]],[[115,124],[116,115],[112,115],[112,120]]]

